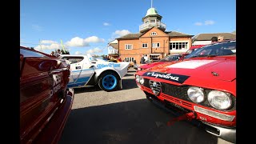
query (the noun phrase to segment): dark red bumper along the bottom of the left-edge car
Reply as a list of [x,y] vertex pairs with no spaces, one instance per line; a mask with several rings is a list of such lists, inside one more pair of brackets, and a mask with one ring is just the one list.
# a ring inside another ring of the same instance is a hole
[[74,89],[66,90],[66,98],[62,102],[62,106],[50,118],[50,122],[42,129],[34,143],[51,143],[57,144],[62,136],[62,131],[66,124],[66,120],[70,114],[71,107],[74,101]]

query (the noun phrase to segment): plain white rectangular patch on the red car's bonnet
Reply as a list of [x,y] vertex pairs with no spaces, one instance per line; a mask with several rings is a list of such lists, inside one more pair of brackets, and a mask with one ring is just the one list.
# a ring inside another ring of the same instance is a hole
[[214,62],[215,60],[191,60],[191,61],[184,61],[178,62],[170,66],[166,66],[168,68],[183,68],[183,69],[195,69],[199,66],[206,65],[210,62]]

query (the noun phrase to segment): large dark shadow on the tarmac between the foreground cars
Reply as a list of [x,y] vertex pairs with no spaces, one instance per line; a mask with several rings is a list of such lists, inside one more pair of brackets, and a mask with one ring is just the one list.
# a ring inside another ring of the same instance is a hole
[[71,110],[59,144],[216,144],[189,122],[166,126],[174,115],[147,99]]

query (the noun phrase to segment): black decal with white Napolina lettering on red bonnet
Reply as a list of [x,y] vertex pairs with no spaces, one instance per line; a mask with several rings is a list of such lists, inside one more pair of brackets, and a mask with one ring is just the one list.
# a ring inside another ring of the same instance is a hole
[[172,82],[183,83],[186,81],[187,78],[190,76],[187,75],[179,75],[179,74],[166,74],[166,73],[159,73],[159,72],[146,72],[143,76],[153,77],[153,78],[161,78]]

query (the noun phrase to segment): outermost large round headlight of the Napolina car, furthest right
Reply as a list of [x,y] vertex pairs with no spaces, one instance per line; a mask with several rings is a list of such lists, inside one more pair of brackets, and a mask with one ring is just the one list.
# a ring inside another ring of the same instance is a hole
[[214,108],[219,110],[226,110],[232,104],[230,96],[218,90],[210,91],[210,93],[208,94],[208,102],[211,106],[214,106]]

